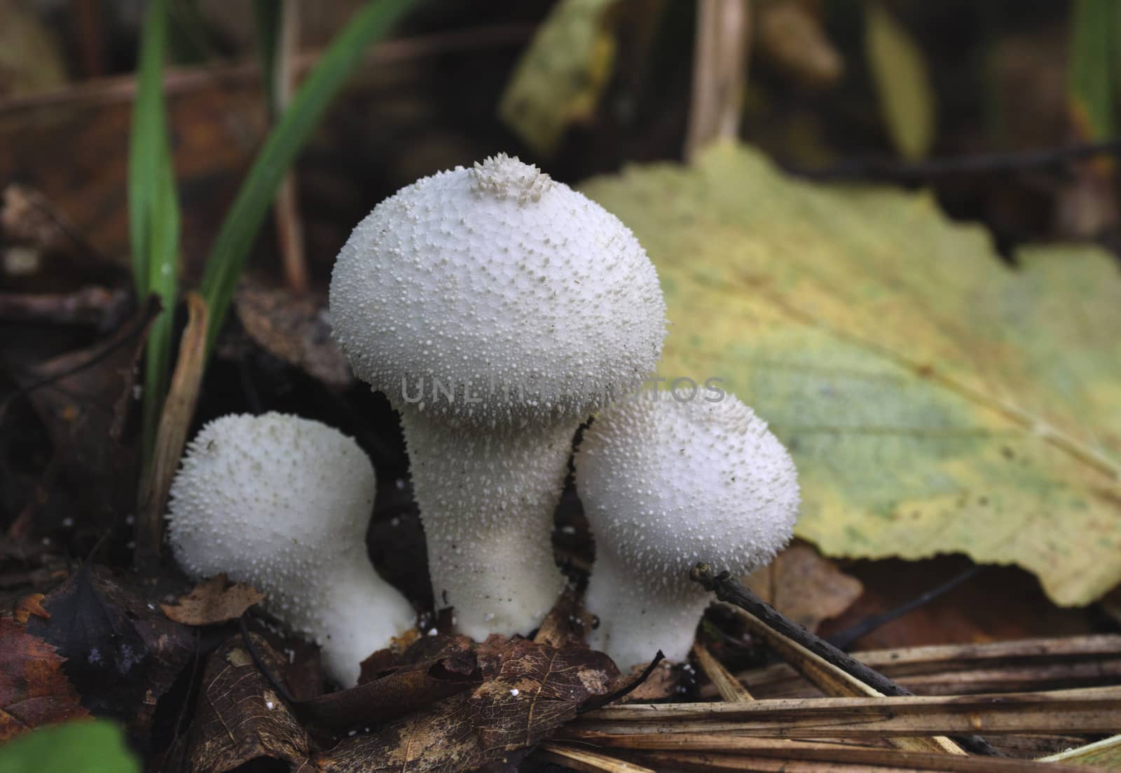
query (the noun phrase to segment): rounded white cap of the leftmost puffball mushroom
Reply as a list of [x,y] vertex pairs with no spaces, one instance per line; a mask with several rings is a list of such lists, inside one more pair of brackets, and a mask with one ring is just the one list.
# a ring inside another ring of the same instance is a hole
[[172,484],[168,535],[194,576],[291,571],[303,561],[365,555],[377,490],[352,438],[289,414],[228,415],[187,445]]

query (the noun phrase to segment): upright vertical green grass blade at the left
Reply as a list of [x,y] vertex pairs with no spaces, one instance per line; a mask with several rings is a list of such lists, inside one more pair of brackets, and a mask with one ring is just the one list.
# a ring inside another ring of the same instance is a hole
[[167,3],[148,6],[140,43],[138,89],[129,147],[129,236],[138,297],[156,293],[164,311],[148,335],[143,392],[143,453],[155,441],[167,389],[172,332],[178,293],[179,202],[167,136],[164,58]]

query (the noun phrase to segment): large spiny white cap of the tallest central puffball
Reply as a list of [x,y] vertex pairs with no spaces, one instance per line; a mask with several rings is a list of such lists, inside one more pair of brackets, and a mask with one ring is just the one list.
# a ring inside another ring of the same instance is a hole
[[334,335],[360,379],[398,408],[488,425],[586,414],[633,389],[665,312],[630,229],[506,155],[378,204],[331,277]]

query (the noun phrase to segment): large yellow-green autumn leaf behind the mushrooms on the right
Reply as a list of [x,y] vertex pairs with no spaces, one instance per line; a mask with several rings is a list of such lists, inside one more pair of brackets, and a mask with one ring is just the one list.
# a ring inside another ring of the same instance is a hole
[[583,190],[634,230],[671,322],[661,376],[724,386],[803,485],[832,555],[962,552],[1059,604],[1121,582],[1121,272],[999,259],[924,194],[789,178],[717,146]]

